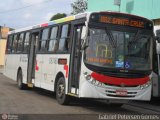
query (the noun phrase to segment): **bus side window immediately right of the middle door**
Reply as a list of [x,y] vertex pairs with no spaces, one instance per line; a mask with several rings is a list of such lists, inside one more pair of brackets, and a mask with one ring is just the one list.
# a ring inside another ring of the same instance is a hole
[[49,35],[49,28],[46,28],[42,31],[41,40],[39,41],[39,50],[42,52],[47,51],[48,35]]

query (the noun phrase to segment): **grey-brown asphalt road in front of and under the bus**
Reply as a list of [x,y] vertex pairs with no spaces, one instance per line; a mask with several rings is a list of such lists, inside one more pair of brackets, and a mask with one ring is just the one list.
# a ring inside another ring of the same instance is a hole
[[104,101],[75,99],[59,105],[55,95],[42,89],[19,90],[15,81],[0,74],[0,114],[160,114],[132,105],[111,107]]

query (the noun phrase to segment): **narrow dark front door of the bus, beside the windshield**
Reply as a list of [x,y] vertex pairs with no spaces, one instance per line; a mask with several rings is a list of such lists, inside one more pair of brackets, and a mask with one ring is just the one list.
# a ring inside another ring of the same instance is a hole
[[69,90],[68,92],[74,95],[78,95],[79,79],[81,72],[81,33],[83,25],[75,25],[73,27],[73,42],[69,72]]

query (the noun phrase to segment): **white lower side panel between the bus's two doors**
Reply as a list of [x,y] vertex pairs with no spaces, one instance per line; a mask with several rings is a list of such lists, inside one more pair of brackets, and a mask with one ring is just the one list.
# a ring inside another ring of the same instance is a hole
[[[38,62],[39,59],[42,58],[41,62]],[[55,55],[55,54],[49,54],[49,55],[39,55],[39,57],[37,57],[37,63],[39,63],[38,67],[42,67],[41,69],[39,68],[39,70],[41,71],[41,81],[40,81],[40,87],[50,90],[50,91],[54,91],[54,85],[55,85],[55,80],[56,80],[56,76],[58,73],[62,73],[65,77],[65,82],[66,82],[66,93],[67,93],[67,88],[68,88],[68,70],[69,67],[65,67],[65,66],[69,66],[69,58],[70,55]],[[66,59],[67,60],[67,64],[59,64],[58,60],[60,59]],[[36,71],[37,72],[37,71]],[[37,73],[39,74],[39,73]],[[35,79],[36,81],[37,79]],[[35,84],[36,85],[36,84]]]

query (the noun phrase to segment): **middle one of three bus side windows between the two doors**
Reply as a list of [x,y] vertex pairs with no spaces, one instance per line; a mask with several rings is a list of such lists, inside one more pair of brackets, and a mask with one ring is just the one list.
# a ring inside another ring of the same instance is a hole
[[49,48],[48,48],[49,52],[56,52],[56,50],[58,49],[57,37],[58,37],[58,27],[53,27],[51,29],[50,40],[49,40]]

